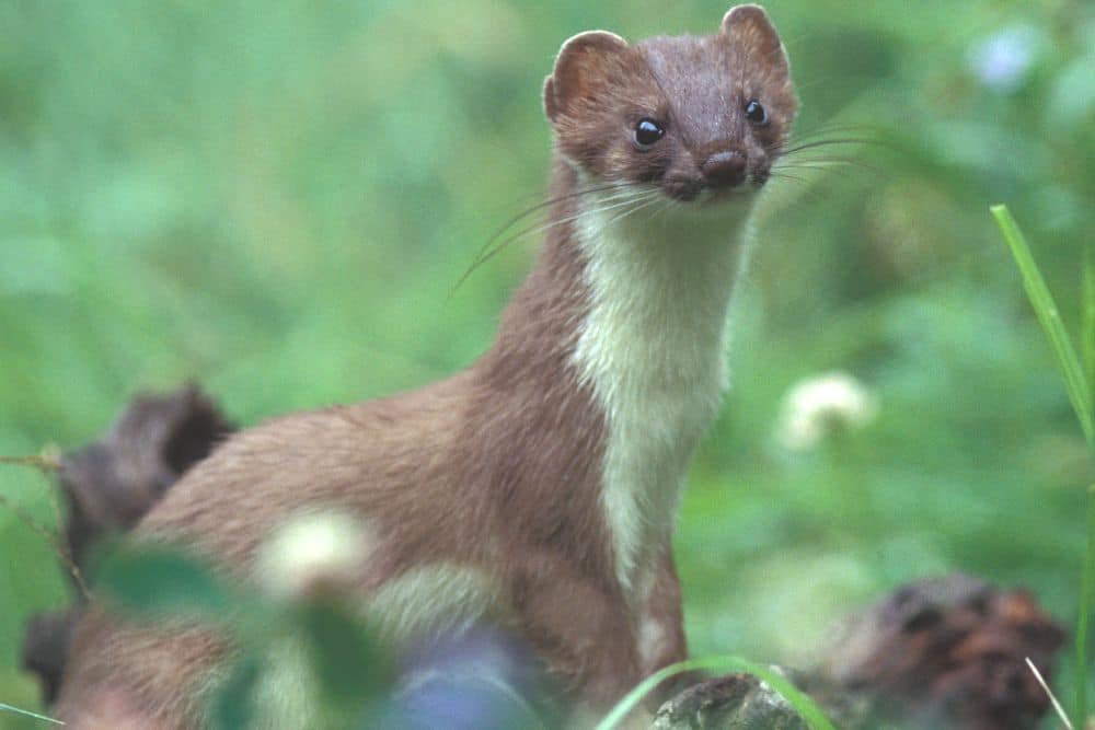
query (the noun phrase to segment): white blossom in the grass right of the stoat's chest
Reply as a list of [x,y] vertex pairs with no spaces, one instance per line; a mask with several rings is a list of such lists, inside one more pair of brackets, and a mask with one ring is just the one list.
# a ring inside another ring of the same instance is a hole
[[878,399],[846,372],[798,381],[783,397],[776,441],[791,451],[809,451],[837,431],[863,428],[878,416]]

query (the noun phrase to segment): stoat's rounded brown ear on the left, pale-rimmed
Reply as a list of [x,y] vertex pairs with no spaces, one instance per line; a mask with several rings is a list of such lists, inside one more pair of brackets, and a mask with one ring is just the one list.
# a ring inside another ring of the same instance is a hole
[[608,31],[587,31],[564,43],[555,70],[544,81],[548,118],[573,115],[583,102],[595,100],[626,50],[627,42]]

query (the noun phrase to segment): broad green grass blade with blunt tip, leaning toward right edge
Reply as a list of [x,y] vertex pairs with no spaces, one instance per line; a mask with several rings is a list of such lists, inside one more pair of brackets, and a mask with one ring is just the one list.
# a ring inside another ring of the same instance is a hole
[[1027,297],[1030,298],[1035,314],[1038,315],[1038,321],[1053,346],[1053,354],[1057,356],[1057,363],[1064,375],[1064,384],[1069,391],[1072,408],[1076,412],[1076,418],[1080,419],[1080,427],[1084,431],[1084,438],[1087,439],[1087,445],[1095,454],[1095,418],[1092,416],[1091,390],[1080,359],[1076,357],[1076,351],[1072,347],[1072,340],[1069,339],[1069,333],[1061,321],[1057,303],[1053,302],[1046,280],[1042,278],[1034,256],[1030,255],[1026,239],[1015,223],[1015,219],[1012,218],[1011,211],[1007,210],[1007,206],[993,206],[990,210],[1019,267],[1019,273],[1023,275],[1023,286]]

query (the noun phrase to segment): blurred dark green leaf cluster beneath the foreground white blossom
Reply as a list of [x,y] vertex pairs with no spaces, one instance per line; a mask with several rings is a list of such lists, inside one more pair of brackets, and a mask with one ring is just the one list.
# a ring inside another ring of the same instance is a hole
[[[273,600],[250,588],[229,589],[201,561],[163,546],[113,546],[104,551],[93,588],[105,601],[138,621],[199,621],[216,627],[234,646],[235,658],[209,699],[214,728],[245,728],[268,699],[264,683],[276,686],[286,671],[314,677],[290,690],[299,702],[322,710],[313,727],[349,727],[382,708],[394,682],[391,659],[359,617],[333,599]],[[292,651],[303,646],[301,663]],[[272,648],[273,647],[273,648]],[[279,690],[284,692],[284,690]],[[307,696],[314,691],[314,696]]]

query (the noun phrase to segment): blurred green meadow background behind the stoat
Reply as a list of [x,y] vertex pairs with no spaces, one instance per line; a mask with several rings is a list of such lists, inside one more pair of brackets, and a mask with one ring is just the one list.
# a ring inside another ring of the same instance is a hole
[[[1011,205],[1075,331],[1095,5],[766,4],[798,131],[881,143],[765,201],[678,532],[693,651],[794,663],[835,616],[948,570],[1071,623],[1091,471],[988,206]],[[253,424],[466,364],[535,241],[450,291],[542,199],[560,43],[708,33],[726,8],[0,0],[0,453],[76,447],[187,379]],[[784,394],[833,370],[877,418],[781,445]],[[44,484],[0,468],[0,494],[51,522]],[[49,547],[0,510],[0,702],[37,707],[23,623],[66,599]]]

